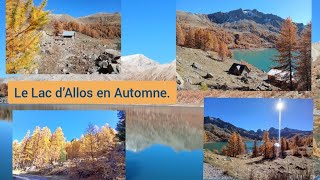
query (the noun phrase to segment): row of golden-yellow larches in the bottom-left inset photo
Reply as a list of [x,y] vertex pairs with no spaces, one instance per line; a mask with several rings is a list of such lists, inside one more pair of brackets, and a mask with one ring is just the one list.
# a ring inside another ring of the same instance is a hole
[[44,168],[74,159],[93,160],[112,152],[117,142],[116,132],[107,125],[99,129],[89,125],[80,139],[71,141],[66,140],[60,127],[53,134],[48,127],[36,127],[21,142],[13,142],[13,169]]

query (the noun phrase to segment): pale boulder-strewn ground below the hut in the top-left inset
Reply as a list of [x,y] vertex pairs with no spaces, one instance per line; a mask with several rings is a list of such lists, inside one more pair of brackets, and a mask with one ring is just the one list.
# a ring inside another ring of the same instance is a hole
[[78,32],[74,39],[45,31],[42,34],[34,74],[120,73],[120,50],[116,50],[116,40],[91,38]]

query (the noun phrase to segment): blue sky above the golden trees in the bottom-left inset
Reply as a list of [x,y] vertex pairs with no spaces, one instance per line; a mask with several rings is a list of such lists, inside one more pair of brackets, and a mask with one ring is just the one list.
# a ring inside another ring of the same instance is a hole
[[77,110],[28,110],[13,111],[13,140],[21,141],[30,130],[32,134],[36,126],[47,126],[51,133],[61,127],[67,140],[80,138],[89,123],[99,127],[109,124],[116,128],[117,111],[77,111]]

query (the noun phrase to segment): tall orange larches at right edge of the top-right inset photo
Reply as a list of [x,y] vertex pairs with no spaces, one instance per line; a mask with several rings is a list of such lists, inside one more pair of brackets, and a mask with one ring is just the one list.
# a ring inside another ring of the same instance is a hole
[[297,26],[287,18],[276,41],[276,49],[279,55],[274,59],[277,63],[274,68],[290,73],[286,79],[289,82],[287,89],[294,90],[298,83],[299,90],[311,91],[311,23],[299,37]]

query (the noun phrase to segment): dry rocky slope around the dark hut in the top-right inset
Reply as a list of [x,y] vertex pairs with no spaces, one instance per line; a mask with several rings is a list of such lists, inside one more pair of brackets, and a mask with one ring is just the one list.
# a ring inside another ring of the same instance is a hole
[[[246,65],[251,70],[248,77],[228,74],[234,59],[220,61],[214,52],[177,47],[177,81],[181,90],[278,90],[266,82],[267,74],[258,68]],[[244,62],[242,62],[244,63]]]

